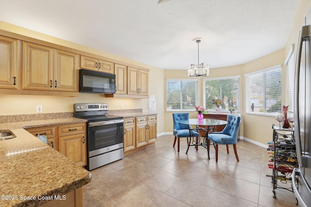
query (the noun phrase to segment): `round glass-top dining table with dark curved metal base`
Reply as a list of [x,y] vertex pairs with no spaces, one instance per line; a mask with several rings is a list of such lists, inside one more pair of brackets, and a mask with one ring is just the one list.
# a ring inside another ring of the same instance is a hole
[[[202,121],[199,121],[199,119],[189,119],[189,120],[180,120],[178,121],[178,123],[188,125],[188,128],[189,128],[190,143],[188,145],[186,154],[188,153],[190,146],[195,146],[196,150],[198,150],[198,146],[203,146],[204,148],[207,149],[207,155],[209,159],[208,134],[213,133],[214,127],[216,125],[225,125],[228,122],[224,120],[219,120],[219,119],[203,119]],[[191,125],[195,125],[195,128],[192,128]],[[193,131],[199,132],[199,130],[205,131],[203,142],[200,141],[200,133],[199,133],[199,137],[196,137],[196,139],[194,140],[195,136],[194,136]],[[191,137],[192,137],[192,141],[191,141]]]

